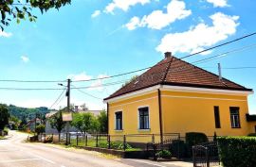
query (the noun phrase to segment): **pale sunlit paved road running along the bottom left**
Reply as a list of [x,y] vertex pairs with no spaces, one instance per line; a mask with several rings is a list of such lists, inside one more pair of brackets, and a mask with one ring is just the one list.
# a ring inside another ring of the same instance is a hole
[[177,167],[143,159],[106,159],[98,153],[23,142],[27,135],[10,131],[0,140],[0,167]]

